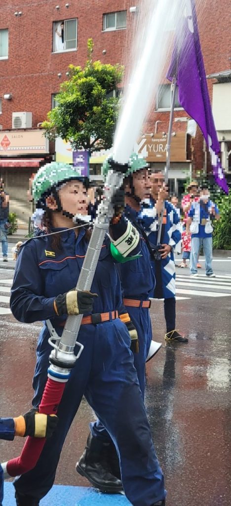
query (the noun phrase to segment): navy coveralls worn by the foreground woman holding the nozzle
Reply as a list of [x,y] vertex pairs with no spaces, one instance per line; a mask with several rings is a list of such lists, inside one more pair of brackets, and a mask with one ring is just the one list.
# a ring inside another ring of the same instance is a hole
[[[65,317],[55,316],[54,299],[76,285],[88,245],[84,229],[80,229],[77,239],[71,230],[61,236],[62,250],[55,251],[55,258],[45,256],[45,250],[51,251],[48,236],[34,238],[20,248],[11,294],[11,310],[18,320],[30,323],[51,319],[59,335]],[[140,245],[136,250],[139,249]],[[120,281],[108,238],[91,290],[99,295],[94,299],[94,313],[121,307]],[[34,407],[39,404],[47,381],[49,337],[44,323],[33,378]],[[63,443],[84,394],[116,446],[127,498],[134,506],[151,506],[165,497],[164,478],[133,365],[129,333],[117,318],[97,325],[81,325],[78,341],[84,349],[64,390],[57,413],[58,430],[45,442],[35,468],[15,481],[15,488],[38,499],[51,489]]]

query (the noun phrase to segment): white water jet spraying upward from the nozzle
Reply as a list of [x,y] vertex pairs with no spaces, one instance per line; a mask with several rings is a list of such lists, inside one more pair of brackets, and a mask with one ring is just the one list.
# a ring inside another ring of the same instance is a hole
[[149,107],[157,95],[166,60],[172,49],[172,29],[177,26],[186,0],[145,0],[145,17],[137,28],[133,68],[127,80],[124,103],[113,145],[116,161],[127,162],[141,133]]

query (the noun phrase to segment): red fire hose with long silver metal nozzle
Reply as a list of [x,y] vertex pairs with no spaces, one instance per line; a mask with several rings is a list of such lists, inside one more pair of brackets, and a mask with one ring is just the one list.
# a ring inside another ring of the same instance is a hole
[[[123,181],[125,166],[111,161],[114,170],[108,172],[102,202],[98,208],[98,216],[87,247],[86,256],[76,285],[77,290],[90,290],[99,260],[105,233],[109,228],[113,216],[112,200],[116,190]],[[52,335],[49,339],[53,350],[50,355],[48,380],[42,395],[38,411],[43,414],[56,414],[61,402],[65,385],[80,357],[83,345],[78,343],[77,336],[83,315],[68,316],[61,338]],[[79,347],[77,356],[74,354],[75,346]],[[28,437],[19,457],[2,463],[4,478],[24,474],[33,469],[39,459],[45,444],[45,438]]]

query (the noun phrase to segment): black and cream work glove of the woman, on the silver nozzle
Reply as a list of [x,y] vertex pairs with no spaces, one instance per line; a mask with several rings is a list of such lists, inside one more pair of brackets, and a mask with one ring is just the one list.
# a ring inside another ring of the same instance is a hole
[[56,297],[55,312],[57,316],[91,313],[94,297],[98,297],[97,293],[91,293],[88,290],[70,290]]

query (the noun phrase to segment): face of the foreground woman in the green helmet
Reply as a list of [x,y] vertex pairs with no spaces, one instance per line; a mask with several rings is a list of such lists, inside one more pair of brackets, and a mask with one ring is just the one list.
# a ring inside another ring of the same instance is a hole
[[72,215],[87,215],[90,198],[81,181],[68,181],[59,189],[62,208]]

